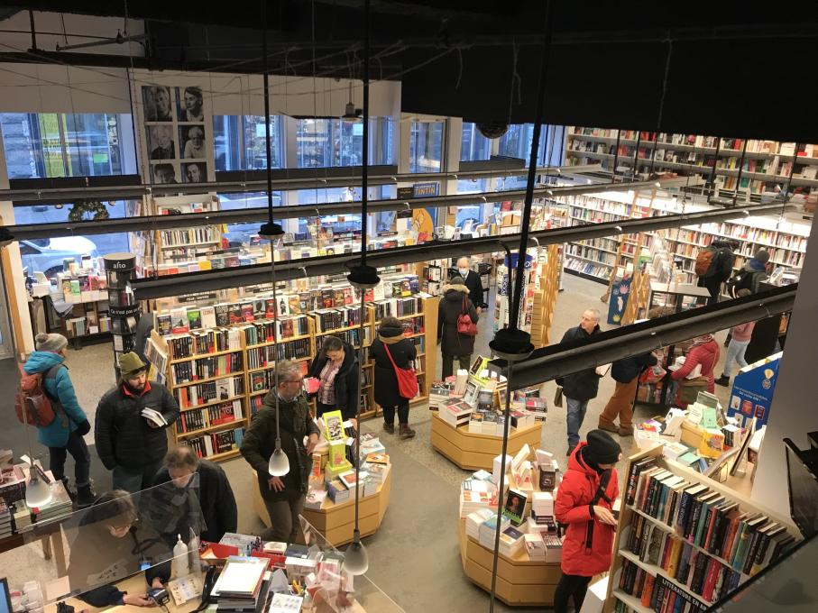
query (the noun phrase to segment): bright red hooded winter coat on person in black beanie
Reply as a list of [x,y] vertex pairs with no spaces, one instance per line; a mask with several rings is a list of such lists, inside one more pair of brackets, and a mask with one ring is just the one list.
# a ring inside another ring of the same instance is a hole
[[[591,515],[590,505],[599,488],[600,474],[585,461],[582,450],[587,445],[585,442],[578,444],[568,458],[568,470],[556,491],[554,515],[556,521],[568,526],[563,539],[563,573],[593,577],[611,567],[614,526],[603,524]],[[605,496],[611,502],[601,498],[596,504],[610,509],[619,496],[616,469],[611,469]],[[590,548],[586,543],[589,522],[593,526]]]

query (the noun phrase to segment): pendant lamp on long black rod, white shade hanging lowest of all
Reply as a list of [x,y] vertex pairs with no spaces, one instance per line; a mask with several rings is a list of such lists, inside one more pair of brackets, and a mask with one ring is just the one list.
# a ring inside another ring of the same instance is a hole
[[361,530],[358,525],[358,511],[361,501],[361,389],[363,381],[363,332],[365,322],[364,297],[367,289],[374,288],[381,282],[378,270],[366,263],[366,207],[369,200],[368,193],[368,166],[369,166],[369,13],[370,0],[363,2],[363,144],[361,169],[361,261],[349,265],[350,272],[346,276],[350,285],[358,290],[361,297],[359,318],[361,328],[358,334],[358,402],[355,413],[355,526],[353,542],[344,552],[344,570],[351,575],[362,575],[369,570],[369,555],[366,547],[361,543]]

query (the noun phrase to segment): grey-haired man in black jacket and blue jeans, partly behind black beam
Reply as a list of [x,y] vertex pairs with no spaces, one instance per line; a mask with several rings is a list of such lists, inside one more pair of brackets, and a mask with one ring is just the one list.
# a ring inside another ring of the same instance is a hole
[[[600,333],[600,312],[589,308],[583,312],[579,325],[569,328],[560,343],[587,343],[594,335]],[[563,388],[565,396],[565,422],[567,424],[568,452],[571,455],[574,447],[579,443],[579,430],[583,427],[588,402],[596,398],[599,391],[599,380],[602,376],[600,369],[586,368],[582,371],[565,375],[556,380],[557,385]]]

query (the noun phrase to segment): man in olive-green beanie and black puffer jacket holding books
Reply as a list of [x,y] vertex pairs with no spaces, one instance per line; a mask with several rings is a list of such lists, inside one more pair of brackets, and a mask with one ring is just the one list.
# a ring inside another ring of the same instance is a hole
[[[179,418],[179,405],[161,383],[147,379],[148,367],[134,352],[119,358],[120,378],[97,406],[94,440],[99,459],[114,471],[114,489],[131,493],[150,488],[168,452],[165,428]],[[168,425],[142,417],[159,411]]]

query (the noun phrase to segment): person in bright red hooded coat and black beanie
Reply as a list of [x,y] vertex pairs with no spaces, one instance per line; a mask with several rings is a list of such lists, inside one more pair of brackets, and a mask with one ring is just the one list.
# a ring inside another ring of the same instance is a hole
[[583,607],[588,583],[611,567],[616,519],[611,508],[619,496],[614,466],[622,450],[602,430],[588,433],[568,459],[568,470],[554,500],[556,521],[568,526],[563,538],[562,576],[554,592],[555,613],[566,613],[568,599],[574,610]]

